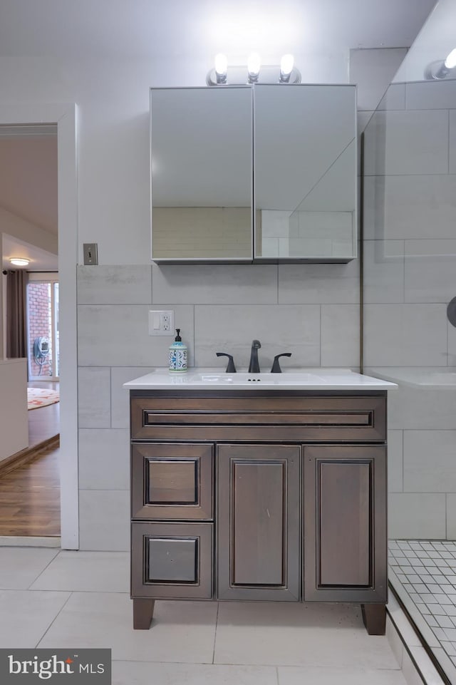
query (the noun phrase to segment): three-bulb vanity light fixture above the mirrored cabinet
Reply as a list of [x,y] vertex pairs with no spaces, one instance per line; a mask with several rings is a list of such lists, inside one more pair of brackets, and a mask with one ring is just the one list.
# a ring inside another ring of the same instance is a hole
[[301,72],[294,66],[293,55],[281,58],[280,66],[264,65],[258,53],[249,55],[245,66],[228,66],[227,56],[218,53],[214,68],[206,76],[207,86],[244,86],[246,83],[301,83]]

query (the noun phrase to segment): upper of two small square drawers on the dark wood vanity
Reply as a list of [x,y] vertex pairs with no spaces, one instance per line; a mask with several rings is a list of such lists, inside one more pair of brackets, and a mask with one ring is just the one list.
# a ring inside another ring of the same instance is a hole
[[212,519],[212,450],[205,444],[133,444],[132,517]]

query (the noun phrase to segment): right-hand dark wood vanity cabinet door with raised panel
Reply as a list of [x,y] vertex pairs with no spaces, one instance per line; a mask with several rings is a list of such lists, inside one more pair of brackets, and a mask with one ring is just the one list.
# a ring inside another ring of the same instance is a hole
[[304,447],[304,600],[385,602],[385,445]]

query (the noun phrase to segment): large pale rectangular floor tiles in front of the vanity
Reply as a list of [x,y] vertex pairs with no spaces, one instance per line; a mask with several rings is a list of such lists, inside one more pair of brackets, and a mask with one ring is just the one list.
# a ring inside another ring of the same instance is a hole
[[134,631],[128,565],[0,547],[0,647],[109,647],[113,685],[405,685],[358,605],[163,601]]

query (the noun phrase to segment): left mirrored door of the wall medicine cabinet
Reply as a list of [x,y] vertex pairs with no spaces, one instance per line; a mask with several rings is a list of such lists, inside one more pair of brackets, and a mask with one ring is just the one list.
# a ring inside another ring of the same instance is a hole
[[152,259],[252,261],[252,88],[151,88]]

